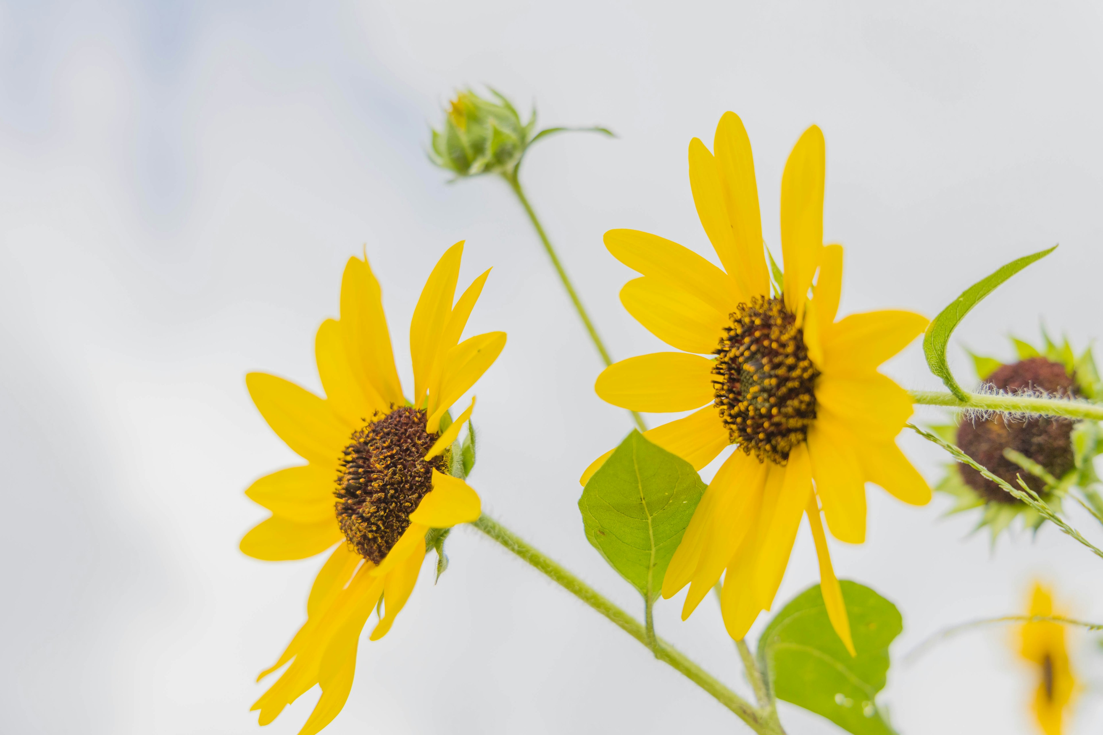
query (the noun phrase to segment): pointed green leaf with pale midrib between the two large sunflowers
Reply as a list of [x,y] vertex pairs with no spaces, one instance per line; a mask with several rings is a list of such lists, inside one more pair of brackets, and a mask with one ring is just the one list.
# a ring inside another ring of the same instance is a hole
[[582,489],[586,538],[650,605],[705,484],[693,465],[632,431]]

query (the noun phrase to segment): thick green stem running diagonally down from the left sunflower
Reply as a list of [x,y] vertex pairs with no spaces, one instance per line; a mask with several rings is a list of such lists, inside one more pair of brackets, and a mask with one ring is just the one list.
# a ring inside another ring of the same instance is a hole
[[[537,571],[543,572],[553,582],[603,615],[621,630],[632,636],[644,646],[651,648],[651,644],[647,640],[646,628],[635,618],[603,597],[593,587],[579,580],[560,564],[545,556],[516,533],[513,533],[485,514],[471,525],[494,541],[497,541],[522,560],[528,562],[528,564],[536,568]],[[721,684],[715,677],[702,669],[694,661],[688,659],[684,653],[678,651],[662,638],[655,638],[655,647],[653,650],[655,652],[655,658],[670,664],[678,673],[704,689],[714,699],[716,699],[716,701],[736,713],[736,715],[747,723],[756,733],[760,733],[762,735],[783,735],[780,726],[777,726],[773,722],[771,722],[768,713],[760,711],[750,702]]]

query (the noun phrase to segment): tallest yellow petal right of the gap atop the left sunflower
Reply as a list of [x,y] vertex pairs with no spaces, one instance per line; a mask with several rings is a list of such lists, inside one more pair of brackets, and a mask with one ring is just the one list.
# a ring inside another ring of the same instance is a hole
[[[425,406],[429,392],[429,374],[437,359],[441,337],[452,314],[456,281],[460,277],[463,242],[457,242],[440,257],[421,290],[421,298],[410,318],[410,360],[414,363],[414,396],[416,408]],[[447,349],[447,348],[446,348]]]

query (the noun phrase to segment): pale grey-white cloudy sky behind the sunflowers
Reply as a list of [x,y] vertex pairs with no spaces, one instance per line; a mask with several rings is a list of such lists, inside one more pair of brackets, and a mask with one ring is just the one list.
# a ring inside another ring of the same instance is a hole
[[[1035,339],[1042,317],[1078,346],[1100,336],[1101,31],[1091,2],[0,6],[0,731],[298,732],[317,690],[264,731],[248,709],[321,559],[237,549],[266,516],[242,490],[296,463],[244,375],[319,388],[314,329],[364,247],[404,380],[408,318],[439,255],[467,239],[463,283],[494,267],[469,334],[510,342],[476,387],[470,482],[488,511],[640,614],[576,506],[577,477],[627,415],[593,394],[597,355],[505,186],[449,185],[426,160],[456,87],[491,84],[537,100],[544,125],[619,134],[554,138],[524,172],[618,357],[662,347],[620,306],[631,274],[601,235],[644,229],[714,257],[686,148],[710,142],[725,110],[750,133],[771,244],[785,156],[806,126],[823,129],[844,312],[933,315],[1060,242],[968,317],[952,353],[968,376],[962,345],[1009,356],[1005,335]],[[888,371],[938,387],[918,345]],[[903,442],[936,480],[938,453]],[[946,626],[1019,612],[1035,576],[1103,619],[1103,561],[1052,528],[993,550],[970,536],[975,517],[943,518],[944,498],[869,499],[868,542],[833,553],[903,614],[884,692],[897,727],[1034,732],[1010,628],[900,660]],[[328,734],[750,732],[475,531],[448,551],[392,634],[365,636]],[[816,579],[802,529],[779,605]],[[660,603],[661,635],[747,691],[715,606],[685,624],[679,609]],[[1086,687],[1070,732],[1100,732],[1103,650],[1078,633],[1070,646]],[[782,709],[792,735],[838,732]]]

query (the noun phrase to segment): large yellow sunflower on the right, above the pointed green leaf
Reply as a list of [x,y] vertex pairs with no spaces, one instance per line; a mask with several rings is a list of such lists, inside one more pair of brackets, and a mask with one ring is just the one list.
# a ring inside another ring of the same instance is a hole
[[[784,274],[777,273],[773,291],[750,141],[735,114],[720,118],[713,152],[696,138],[689,143],[689,183],[724,270],[655,235],[606,233],[613,257],[643,275],[624,285],[621,303],[684,352],[622,360],[595,386],[606,401],[633,411],[696,410],[645,435],[697,469],[729,444],[739,450],[702,498],[666,571],[663,596],[690,584],[686,618],[727,569],[724,621],[732,638],[742,638],[773,604],[806,515],[831,620],[853,651],[821,507],[835,538],[861,543],[867,480],[906,502],[930,500],[927,482],[896,444],[911,400],[877,370],[927,320],[879,311],[836,321],[843,248],[823,244],[817,127],[801,136],[782,176]],[[609,454],[587,468],[583,484]]]

